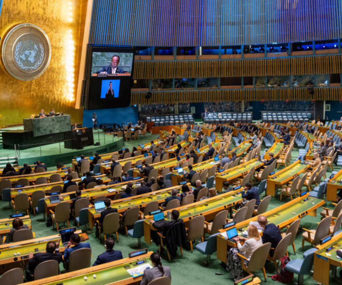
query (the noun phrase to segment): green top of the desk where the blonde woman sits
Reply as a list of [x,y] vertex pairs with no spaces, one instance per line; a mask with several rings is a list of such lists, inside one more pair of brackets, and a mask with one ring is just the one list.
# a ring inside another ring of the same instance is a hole
[[[295,203],[286,209],[279,210],[278,212],[276,212],[275,214],[271,216],[267,216],[267,212],[266,212],[268,223],[274,223],[275,225],[279,225],[291,219],[292,217],[300,215],[301,213],[307,211],[308,209],[317,205],[320,202],[322,202],[321,199],[308,197],[306,201],[304,201],[304,198],[303,198],[300,202]],[[242,228],[247,230],[247,225]],[[241,235],[240,231],[238,231],[238,233],[239,235]]]

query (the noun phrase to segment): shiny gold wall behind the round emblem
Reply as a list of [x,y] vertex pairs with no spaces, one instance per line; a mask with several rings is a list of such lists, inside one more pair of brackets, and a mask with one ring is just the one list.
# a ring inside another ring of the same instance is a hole
[[44,74],[32,81],[21,81],[0,67],[0,115],[5,124],[22,123],[40,109],[71,115],[82,122],[83,110],[75,109],[78,66],[86,0],[3,0],[0,15],[1,46],[8,31],[21,23],[37,25],[51,42],[51,61]]

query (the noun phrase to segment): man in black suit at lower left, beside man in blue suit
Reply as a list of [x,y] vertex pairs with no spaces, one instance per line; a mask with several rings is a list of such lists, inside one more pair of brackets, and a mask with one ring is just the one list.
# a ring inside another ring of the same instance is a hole
[[62,254],[59,252],[59,246],[60,240],[58,240],[57,244],[54,241],[50,241],[46,245],[46,252],[38,252],[36,254],[30,252],[28,254],[29,259],[26,265],[26,278],[28,281],[34,280],[33,273],[38,264],[48,260],[56,260],[58,264],[63,262]]

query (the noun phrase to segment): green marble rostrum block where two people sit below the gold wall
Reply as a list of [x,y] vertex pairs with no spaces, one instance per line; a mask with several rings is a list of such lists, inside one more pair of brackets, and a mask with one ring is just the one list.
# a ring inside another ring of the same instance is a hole
[[24,131],[32,131],[34,137],[71,131],[70,115],[23,119]]

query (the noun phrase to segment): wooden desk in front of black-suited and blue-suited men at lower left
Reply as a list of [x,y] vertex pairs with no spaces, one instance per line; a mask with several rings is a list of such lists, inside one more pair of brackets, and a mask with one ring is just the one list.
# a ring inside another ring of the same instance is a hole
[[[86,233],[82,233],[81,230],[76,231],[76,233],[83,236],[84,239],[89,239]],[[48,241],[57,242],[60,239],[59,234],[45,236],[40,238],[28,239],[26,241],[9,243],[0,245],[0,274],[3,274],[7,270],[16,267],[26,267],[26,263],[28,261],[28,254],[30,252],[35,252],[35,249],[38,248],[37,252],[45,252],[46,244]],[[13,247],[16,246],[16,247]],[[19,255],[14,255],[14,253],[18,253]],[[60,241],[60,252],[63,254],[64,247],[62,246],[62,241]]]

